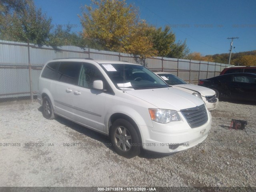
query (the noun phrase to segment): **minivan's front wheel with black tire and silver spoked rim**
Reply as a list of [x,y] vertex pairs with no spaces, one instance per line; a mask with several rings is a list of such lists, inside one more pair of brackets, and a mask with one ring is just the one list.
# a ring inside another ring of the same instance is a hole
[[134,126],[124,119],[118,119],[112,124],[110,138],[116,153],[126,158],[140,154],[140,139]]

